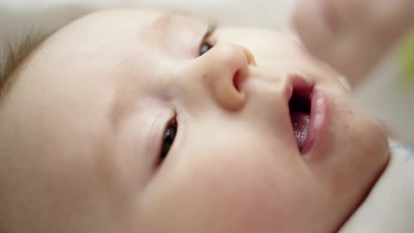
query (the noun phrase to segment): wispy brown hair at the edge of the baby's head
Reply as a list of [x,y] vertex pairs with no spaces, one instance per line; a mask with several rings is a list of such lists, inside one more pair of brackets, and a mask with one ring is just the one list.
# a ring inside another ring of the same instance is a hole
[[18,70],[52,33],[30,30],[17,42],[8,40],[3,44],[0,58],[0,100],[11,90]]

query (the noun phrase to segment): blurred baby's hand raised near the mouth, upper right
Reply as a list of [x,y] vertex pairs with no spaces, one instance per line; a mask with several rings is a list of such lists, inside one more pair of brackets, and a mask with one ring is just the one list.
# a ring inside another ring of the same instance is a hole
[[414,23],[414,0],[300,0],[293,25],[307,49],[356,86]]

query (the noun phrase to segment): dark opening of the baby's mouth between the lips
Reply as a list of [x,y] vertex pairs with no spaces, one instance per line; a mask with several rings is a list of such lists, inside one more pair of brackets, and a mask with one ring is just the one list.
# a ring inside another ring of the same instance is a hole
[[311,103],[312,86],[294,85],[293,93],[289,100],[289,113],[300,152],[302,152],[308,136],[311,120]]

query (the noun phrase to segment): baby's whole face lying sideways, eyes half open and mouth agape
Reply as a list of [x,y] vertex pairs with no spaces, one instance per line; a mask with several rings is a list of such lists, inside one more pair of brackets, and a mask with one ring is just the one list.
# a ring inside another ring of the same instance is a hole
[[[51,36],[1,105],[0,226],[337,229],[387,162],[380,126],[285,36],[218,29],[200,55],[207,27],[116,10]],[[291,96],[300,100],[289,107]]]

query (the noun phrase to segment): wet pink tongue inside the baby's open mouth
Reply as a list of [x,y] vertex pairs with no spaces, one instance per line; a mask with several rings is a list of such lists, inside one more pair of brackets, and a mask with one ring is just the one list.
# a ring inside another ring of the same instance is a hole
[[307,131],[309,128],[309,113],[306,112],[291,112],[291,121],[293,132],[295,132],[298,147],[302,150],[307,138]]

